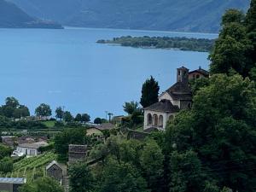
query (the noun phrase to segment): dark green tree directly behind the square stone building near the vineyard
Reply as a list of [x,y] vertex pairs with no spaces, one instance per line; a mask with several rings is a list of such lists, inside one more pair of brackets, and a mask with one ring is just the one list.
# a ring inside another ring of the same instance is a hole
[[67,152],[69,144],[86,144],[89,137],[86,137],[86,131],[80,129],[68,129],[55,136],[55,151],[59,155],[60,160],[67,161]]

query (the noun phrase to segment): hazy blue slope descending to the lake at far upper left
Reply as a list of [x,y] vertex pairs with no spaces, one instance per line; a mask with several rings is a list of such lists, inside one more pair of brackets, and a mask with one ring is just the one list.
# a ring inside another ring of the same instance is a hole
[[61,28],[61,25],[55,22],[38,20],[27,15],[14,3],[0,0],[0,27]]

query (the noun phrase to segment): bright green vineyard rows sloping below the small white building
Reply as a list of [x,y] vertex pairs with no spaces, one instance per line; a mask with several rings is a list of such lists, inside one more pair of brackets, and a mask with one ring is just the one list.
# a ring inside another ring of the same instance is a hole
[[35,174],[45,175],[45,167],[56,160],[57,155],[49,152],[35,157],[22,159],[14,164],[13,172],[1,174],[0,177],[26,177],[27,182],[32,182]]

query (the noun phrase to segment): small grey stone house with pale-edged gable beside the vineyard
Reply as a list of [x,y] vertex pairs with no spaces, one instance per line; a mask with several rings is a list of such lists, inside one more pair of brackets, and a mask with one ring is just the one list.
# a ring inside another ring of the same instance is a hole
[[62,184],[64,171],[63,168],[55,160],[46,166],[46,174],[48,177],[53,177],[56,181]]

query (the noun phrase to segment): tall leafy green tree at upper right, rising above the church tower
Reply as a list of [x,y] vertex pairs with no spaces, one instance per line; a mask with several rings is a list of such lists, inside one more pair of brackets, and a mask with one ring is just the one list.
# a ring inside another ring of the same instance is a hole
[[247,53],[253,46],[247,38],[247,28],[243,25],[244,15],[234,9],[228,10],[223,16],[223,29],[215,42],[211,55],[210,71],[214,73],[236,73],[247,77],[253,67]]

